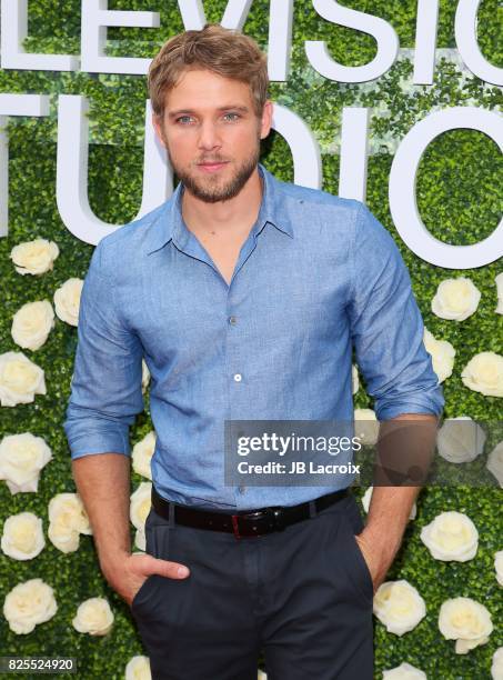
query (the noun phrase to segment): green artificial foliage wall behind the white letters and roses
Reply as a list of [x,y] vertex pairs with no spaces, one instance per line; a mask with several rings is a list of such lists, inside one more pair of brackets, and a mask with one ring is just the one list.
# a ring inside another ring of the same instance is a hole
[[[207,0],[209,21],[219,21],[227,2]],[[380,16],[395,28],[402,48],[415,42],[416,3],[412,0],[346,0],[345,6]],[[114,0],[110,9],[155,10],[159,29],[114,28],[109,30],[110,56],[152,57],[162,42],[183,30],[174,0]],[[441,0],[439,48],[455,48],[456,2]],[[37,0],[29,3],[28,51],[80,53],[80,0]],[[479,10],[479,43],[482,53],[495,66],[503,66],[501,26],[503,9],[497,0],[483,0]],[[266,49],[269,2],[254,0],[244,32]],[[499,40],[500,38],[500,40]],[[456,349],[454,371],[444,383],[444,417],[470,416],[483,422],[501,418],[501,400],[465,388],[461,371],[477,352],[501,353],[503,318],[496,307],[495,276],[501,262],[474,270],[447,270],[415,257],[401,241],[393,226],[388,202],[388,178],[396,143],[429,111],[450,106],[479,106],[496,110],[502,106],[501,89],[470,73],[461,78],[459,67],[445,56],[439,60],[432,86],[412,86],[413,64],[400,59],[372,83],[342,84],[318,74],[309,64],[304,40],[326,40],[334,59],[358,66],[375,54],[373,39],[364,33],[335,27],[320,18],[309,0],[294,3],[291,76],[286,83],[271,83],[272,98],[301,116],[318,139],[323,159],[323,189],[338,192],[339,134],[342,108],[372,108],[371,142],[381,140],[369,159],[366,202],[395,238],[409,268],[414,293],[425,326],[436,338],[449,340]],[[110,223],[133,219],[141,201],[145,78],[140,76],[89,74],[82,72],[0,71],[0,92],[47,93],[51,114],[46,119],[12,118],[9,132],[9,233],[0,239],[0,353],[23,351],[43,368],[47,396],[33,403],[0,409],[0,438],[29,431],[44,438],[53,459],[42,471],[38,493],[11,496],[0,482],[0,527],[7,517],[23,510],[42,518],[48,528],[48,503],[58,492],[74,491],[70,452],[62,429],[70,396],[70,377],[77,329],[57,318],[56,328],[39,350],[21,350],[10,334],[12,316],[26,302],[48,299],[70,277],[83,278],[93,247],[76,239],[63,226],[56,203],[57,100],[60,93],[84,94],[90,101],[89,198],[98,217]],[[262,161],[280,179],[292,181],[292,159],[285,141],[272,132],[263,147]],[[418,176],[418,206],[437,239],[454,244],[475,243],[496,227],[502,213],[502,160],[492,140],[482,133],[455,130],[439,137],[422,159]],[[53,270],[41,277],[20,276],[9,258],[17,243],[42,237],[53,240],[60,256]],[[475,314],[461,323],[445,321],[431,311],[439,283],[446,278],[467,276],[482,292]],[[355,407],[372,407],[364,384],[355,396]],[[152,429],[148,394],[145,411],[131,429],[134,444]],[[495,442],[492,442],[495,443]],[[481,476],[480,462],[473,463]],[[132,489],[142,479],[132,473]],[[110,490],[113,492],[113,489]],[[356,488],[360,497],[364,489]],[[465,563],[434,560],[420,541],[420,531],[445,510],[465,512],[475,523],[479,551]],[[418,517],[406,528],[403,544],[390,569],[388,580],[406,579],[426,602],[427,616],[403,637],[388,633],[375,621],[375,677],[402,661],[423,669],[429,678],[479,680],[490,678],[491,657],[502,643],[502,590],[494,572],[494,552],[501,542],[501,490],[490,486],[432,487],[421,492]],[[0,553],[0,601],[17,583],[43,578],[54,588],[58,612],[49,622],[27,636],[9,630],[0,616],[0,656],[72,656],[79,661],[79,678],[122,678],[125,663],[143,653],[128,607],[101,576],[92,538],[81,537],[77,552],[63,554],[49,540],[34,560],[14,561]],[[104,638],[78,633],[71,626],[83,600],[103,596],[115,616]],[[490,641],[465,656],[455,654],[454,642],[446,641],[437,628],[442,602],[465,596],[485,604],[494,622]],[[21,676],[22,677],[22,676]],[[28,676],[27,676],[28,677]],[[209,679],[217,680],[217,679]],[[314,679],[313,679],[314,680]]]

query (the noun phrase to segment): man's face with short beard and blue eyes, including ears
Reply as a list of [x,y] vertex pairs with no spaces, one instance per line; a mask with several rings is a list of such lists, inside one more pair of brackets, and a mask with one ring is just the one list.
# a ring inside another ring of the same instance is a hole
[[167,93],[164,116],[153,116],[153,123],[185,189],[214,203],[237,196],[255,170],[271,117],[271,102],[256,117],[247,83],[191,70]]

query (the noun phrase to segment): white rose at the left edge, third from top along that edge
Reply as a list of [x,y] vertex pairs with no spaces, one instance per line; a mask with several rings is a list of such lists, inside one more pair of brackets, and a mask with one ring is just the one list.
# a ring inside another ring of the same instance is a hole
[[0,354],[0,406],[31,403],[47,394],[43,370],[22,352]]

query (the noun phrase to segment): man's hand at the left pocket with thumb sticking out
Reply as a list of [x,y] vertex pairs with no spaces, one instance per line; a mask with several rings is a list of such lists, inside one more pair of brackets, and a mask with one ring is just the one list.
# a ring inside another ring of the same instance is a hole
[[134,596],[145,582],[147,577],[152,573],[158,573],[168,579],[184,579],[190,574],[184,564],[141,553],[121,554],[113,562],[102,566],[102,571],[107,581],[129,607],[131,607]]

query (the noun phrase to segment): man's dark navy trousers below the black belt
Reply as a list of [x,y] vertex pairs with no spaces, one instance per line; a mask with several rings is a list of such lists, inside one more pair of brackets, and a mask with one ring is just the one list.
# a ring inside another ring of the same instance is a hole
[[[311,503],[313,510],[313,503]],[[151,509],[147,552],[187,564],[131,604],[153,680],[372,680],[372,579],[352,493],[283,531],[237,539]]]

